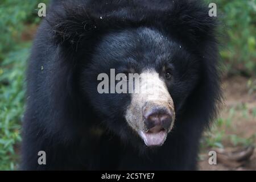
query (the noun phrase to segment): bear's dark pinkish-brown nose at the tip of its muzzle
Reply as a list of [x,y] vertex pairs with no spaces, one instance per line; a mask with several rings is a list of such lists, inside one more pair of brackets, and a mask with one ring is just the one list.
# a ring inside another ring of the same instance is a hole
[[144,123],[148,131],[158,133],[161,130],[166,130],[171,126],[172,113],[166,108],[154,107],[153,109],[143,108]]

